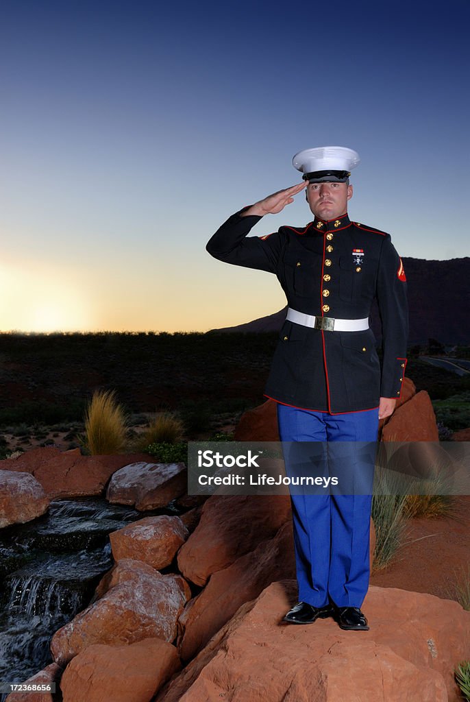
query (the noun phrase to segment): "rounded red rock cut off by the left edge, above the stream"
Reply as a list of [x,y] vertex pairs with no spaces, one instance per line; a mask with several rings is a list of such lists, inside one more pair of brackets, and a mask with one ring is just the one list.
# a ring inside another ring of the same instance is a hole
[[47,512],[50,502],[33,475],[0,470],[0,528],[40,517]]

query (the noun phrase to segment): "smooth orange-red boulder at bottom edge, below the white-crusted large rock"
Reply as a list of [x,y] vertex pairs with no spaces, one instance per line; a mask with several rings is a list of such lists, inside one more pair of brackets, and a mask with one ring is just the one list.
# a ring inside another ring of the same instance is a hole
[[149,702],[180,668],[175,647],[161,639],[92,644],[67,665],[60,682],[63,702]]

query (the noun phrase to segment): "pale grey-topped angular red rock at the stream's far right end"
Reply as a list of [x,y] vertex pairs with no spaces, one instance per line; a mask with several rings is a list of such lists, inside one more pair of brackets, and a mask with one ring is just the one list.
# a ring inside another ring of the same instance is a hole
[[106,499],[136,510],[164,507],[187,489],[184,463],[130,463],[117,470],[109,481]]

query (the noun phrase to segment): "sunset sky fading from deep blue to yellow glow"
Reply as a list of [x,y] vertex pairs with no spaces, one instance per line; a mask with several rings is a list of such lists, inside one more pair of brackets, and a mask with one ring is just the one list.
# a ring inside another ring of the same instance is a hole
[[[0,330],[206,331],[286,303],[206,253],[295,152],[357,150],[351,218],[470,255],[468,0],[0,2]],[[301,194],[253,230],[304,225]]]

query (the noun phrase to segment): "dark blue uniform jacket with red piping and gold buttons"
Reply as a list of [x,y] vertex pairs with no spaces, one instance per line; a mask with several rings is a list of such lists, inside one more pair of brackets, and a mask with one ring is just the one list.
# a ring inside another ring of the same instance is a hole
[[382,319],[382,369],[371,329],[323,331],[284,322],[264,395],[332,414],[372,409],[380,397],[398,398],[406,366],[408,305],[403,264],[390,235],[351,222],[345,214],[247,237],[261,217],[240,212],[208,241],[211,256],[274,273],[289,307],[298,312],[362,319],[369,317],[377,297]]

